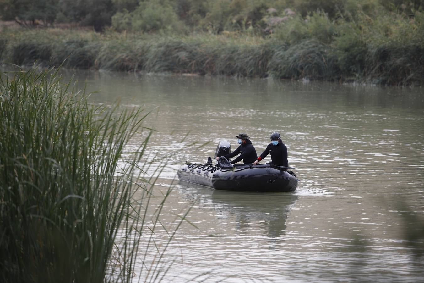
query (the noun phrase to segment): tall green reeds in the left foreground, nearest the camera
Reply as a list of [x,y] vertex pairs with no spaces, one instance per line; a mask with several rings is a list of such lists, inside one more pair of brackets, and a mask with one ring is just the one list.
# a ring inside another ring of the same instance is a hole
[[[149,134],[124,152],[145,114],[91,106],[49,71],[0,78],[0,281],[131,281],[137,252],[153,246],[140,239],[159,217],[143,216],[154,183],[139,167]],[[164,259],[154,249],[153,277]],[[143,276],[150,263],[139,264]]]

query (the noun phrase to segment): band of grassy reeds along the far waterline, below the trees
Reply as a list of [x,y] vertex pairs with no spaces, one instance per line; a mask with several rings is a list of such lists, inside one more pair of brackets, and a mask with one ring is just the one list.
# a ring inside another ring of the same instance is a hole
[[269,36],[118,33],[4,28],[3,62],[117,71],[418,85],[424,82],[424,15],[380,12],[331,20],[293,16]]

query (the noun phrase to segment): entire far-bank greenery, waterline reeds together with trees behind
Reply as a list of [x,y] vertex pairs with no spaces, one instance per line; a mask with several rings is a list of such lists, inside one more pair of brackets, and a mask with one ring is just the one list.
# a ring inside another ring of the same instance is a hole
[[15,2],[0,0],[0,11],[15,11],[21,22],[103,31],[3,28],[0,58],[15,64],[67,59],[75,68],[390,85],[424,78],[419,0],[61,0],[50,22]]

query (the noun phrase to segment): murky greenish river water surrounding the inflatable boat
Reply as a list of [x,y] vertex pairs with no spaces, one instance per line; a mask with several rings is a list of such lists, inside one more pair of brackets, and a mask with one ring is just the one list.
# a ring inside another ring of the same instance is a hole
[[[422,88],[82,71],[76,79],[99,91],[95,103],[152,111],[145,162],[166,165],[154,192],[170,189],[160,217],[168,232],[191,207],[159,266],[169,267],[165,282],[424,282],[416,257],[424,237]],[[294,193],[178,182],[179,166],[206,162],[218,141],[234,150],[246,132],[259,155],[275,130],[301,179]],[[408,241],[413,233],[421,240]],[[159,229],[155,237],[163,249],[169,235]]]

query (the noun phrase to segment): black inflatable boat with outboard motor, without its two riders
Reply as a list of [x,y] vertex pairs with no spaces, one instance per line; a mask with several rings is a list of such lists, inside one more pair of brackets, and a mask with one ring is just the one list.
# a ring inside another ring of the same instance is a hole
[[[221,141],[215,157],[223,156],[230,151],[229,143]],[[227,161],[224,157],[220,157],[220,161],[221,158]],[[293,192],[299,181],[293,171],[287,171],[282,166],[266,164],[230,166],[231,163],[225,162],[212,165],[210,157],[206,164],[186,161],[178,171],[178,178],[216,190],[255,192]]]

